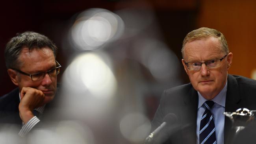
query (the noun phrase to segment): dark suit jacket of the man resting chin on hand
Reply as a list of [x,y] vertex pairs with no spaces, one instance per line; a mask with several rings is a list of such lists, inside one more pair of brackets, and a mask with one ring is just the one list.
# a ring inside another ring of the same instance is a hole
[[[58,89],[59,84],[57,85],[56,93],[58,93]],[[50,103],[46,104],[43,116],[40,118],[41,121],[46,119],[45,115],[47,115],[47,118],[52,116],[49,115],[52,109],[57,107],[58,98],[59,96],[56,94],[54,99]],[[19,103],[19,88],[16,88],[8,94],[0,97],[0,124],[15,124],[21,129],[22,120],[19,116]],[[40,125],[41,121],[36,126]]]

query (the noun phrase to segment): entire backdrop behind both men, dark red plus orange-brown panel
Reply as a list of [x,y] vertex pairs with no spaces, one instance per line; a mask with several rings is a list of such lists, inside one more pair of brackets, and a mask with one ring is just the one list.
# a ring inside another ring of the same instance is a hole
[[[240,0],[7,0],[1,3],[0,96],[15,88],[7,75],[4,63],[5,44],[11,37],[23,31],[36,31],[52,39],[59,48],[57,60],[63,66],[58,79],[61,80],[70,57],[76,53],[63,48],[62,41],[72,23],[72,18],[89,8],[103,8],[112,12],[126,8],[141,11],[150,9],[156,17],[155,23],[159,26],[162,40],[179,60],[182,59],[180,53],[182,41],[189,31],[200,27],[217,29],[225,35],[230,52],[234,55],[229,73],[255,79],[256,2],[254,0],[245,2]],[[127,65],[124,67],[129,67],[130,63],[132,63],[130,60],[128,63],[124,62],[124,65]],[[181,61],[179,67],[178,78],[182,83],[189,82]],[[117,75],[122,77],[122,72],[124,71],[117,70]],[[147,68],[142,66],[141,72],[144,79],[149,79],[149,83],[154,81]],[[167,88],[161,87],[156,94],[148,93],[153,95],[152,99],[146,100],[147,107],[152,108],[148,110],[150,118],[158,105],[160,91]],[[156,95],[157,98],[154,98]]]

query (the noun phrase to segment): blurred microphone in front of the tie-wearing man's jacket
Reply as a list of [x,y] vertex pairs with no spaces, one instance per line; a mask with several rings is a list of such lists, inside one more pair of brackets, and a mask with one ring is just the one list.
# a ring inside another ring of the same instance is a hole
[[166,132],[166,130],[170,130],[170,126],[172,126],[176,122],[177,116],[174,113],[166,114],[165,117],[163,118],[162,124],[148,135],[148,137],[145,139],[144,144],[150,144],[151,142],[153,142],[154,138],[158,137],[159,133],[163,133],[163,131]]

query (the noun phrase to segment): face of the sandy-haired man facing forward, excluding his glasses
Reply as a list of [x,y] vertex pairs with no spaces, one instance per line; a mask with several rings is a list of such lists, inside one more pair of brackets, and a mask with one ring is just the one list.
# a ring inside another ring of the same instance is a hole
[[224,88],[227,72],[232,63],[232,53],[229,53],[217,68],[207,68],[202,64],[200,70],[189,70],[184,61],[205,62],[211,59],[220,59],[226,53],[221,49],[221,43],[215,37],[189,41],[184,46],[182,63],[194,89],[204,98],[211,100]]

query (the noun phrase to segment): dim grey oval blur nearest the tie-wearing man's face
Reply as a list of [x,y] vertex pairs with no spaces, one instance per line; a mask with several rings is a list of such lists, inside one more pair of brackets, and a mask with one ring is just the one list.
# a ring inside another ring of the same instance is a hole
[[165,43],[157,39],[142,39],[135,42],[135,47],[135,59],[146,66],[155,79],[175,80],[180,70],[178,58]]

